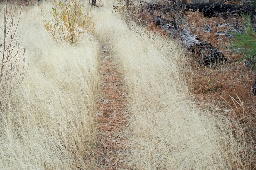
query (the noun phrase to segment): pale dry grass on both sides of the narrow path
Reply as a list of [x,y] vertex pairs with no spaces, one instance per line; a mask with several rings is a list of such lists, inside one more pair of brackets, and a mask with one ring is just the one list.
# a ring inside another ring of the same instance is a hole
[[[113,47],[129,92],[132,118],[122,136],[129,141],[122,153],[126,164],[136,169],[252,168],[241,126],[222,112],[200,109],[191,97],[184,74],[192,68],[178,43],[134,25],[143,33],[135,34],[111,11],[113,2],[103,3],[91,14],[94,34]],[[50,5],[42,8],[50,18]],[[19,29],[29,70],[19,89],[2,97],[0,167],[93,169],[86,154],[96,139],[97,42],[86,35],[76,47],[54,44],[38,7],[25,8]]]

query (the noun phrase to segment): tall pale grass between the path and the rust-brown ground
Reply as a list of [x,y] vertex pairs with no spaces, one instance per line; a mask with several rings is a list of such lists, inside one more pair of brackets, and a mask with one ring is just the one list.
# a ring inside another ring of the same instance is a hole
[[92,13],[101,14],[95,21],[96,34],[113,46],[129,93],[132,118],[126,134],[131,149],[124,153],[128,165],[135,169],[249,168],[248,160],[241,159],[246,147],[243,136],[234,138],[224,117],[199,109],[190,97],[182,76],[189,66],[177,42],[147,31],[136,34],[108,8]]

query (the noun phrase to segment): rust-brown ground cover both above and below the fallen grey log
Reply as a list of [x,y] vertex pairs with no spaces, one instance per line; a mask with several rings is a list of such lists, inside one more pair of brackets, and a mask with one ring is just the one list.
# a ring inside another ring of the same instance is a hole
[[[224,24],[232,22],[232,17],[223,19],[221,16],[207,18],[197,12],[187,12],[187,19],[191,25],[204,27],[204,24],[212,26],[213,31],[206,33],[202,29],[193,29],[201,39],[213,44],[221,51],[229,51],[230,39],[225,36],[216,36],[216,31],[227,31],[229,27],[217,27],[215,23]],[[241,23],[242,18],[239,17]],[[232,25],[232,24],[231,24]],[[222,40],[221,40],[222,39]],[[227,121],[236,122],[239,126],[232,126],[232,131],[236,136],[237,129],[243,129],[244,139],[248,142],[248,148],[254,151],[253,155],[248,155],[251,168],[256,167],[256,105],[255,95],[252,94],[255,72],[249,70],[246,61],[238,63],[241,55],[236,53],[224,52],[228,61],[221,66],[213,68],[196,65],[192,63],[192,72],[189,73],[187,80],[191,82],[191,91],[196,100],[207,108],[218,110],[224,113]]]

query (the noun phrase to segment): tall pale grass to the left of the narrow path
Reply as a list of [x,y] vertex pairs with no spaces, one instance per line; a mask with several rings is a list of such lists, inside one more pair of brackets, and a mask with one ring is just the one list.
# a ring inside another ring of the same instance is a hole
[[[51,4],[41,7],[51,19]],[[23,9],[18,28],[28,73],[17,90],[1,96],[0,168],[89,168],[85,158],[96,138],[98,44],[90,35],[77,46],[56,44],[42,19],[40,7]]]

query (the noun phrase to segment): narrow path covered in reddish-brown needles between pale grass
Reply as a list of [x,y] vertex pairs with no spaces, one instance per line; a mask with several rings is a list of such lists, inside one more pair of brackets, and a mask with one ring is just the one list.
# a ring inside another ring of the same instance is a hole
[[101,44],[100,49],[101,94],[97,102],[99,137],[95,146],[97,169],[127,169],[120,153],[125,151],[122,136],[127,126],[126,93],[122,77],[117,71],[116,58],[111,47]]

